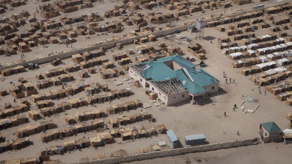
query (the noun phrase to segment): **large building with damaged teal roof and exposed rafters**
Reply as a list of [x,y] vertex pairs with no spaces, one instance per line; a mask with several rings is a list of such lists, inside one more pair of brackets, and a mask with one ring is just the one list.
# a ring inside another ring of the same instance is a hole
[[158,94],[166,105],[191,100],[196,103],[206,94],[218,92],[219,80],[180,55],[168,56],[129,66],[129,76]]

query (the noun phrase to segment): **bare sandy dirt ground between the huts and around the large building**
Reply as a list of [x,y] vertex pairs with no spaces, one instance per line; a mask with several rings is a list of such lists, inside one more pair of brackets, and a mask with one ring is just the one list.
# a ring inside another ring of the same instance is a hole
[[[49,1],[50,3],[53,3],[53,1]],[[266,1],[263,2],[267,6],[274,5],[278,3],[284,3],[286,1]],[[9,13],[6,12],[4,15],[11,16],[12,13],[20,13],[22,10],[28,10],[29,13],[35,11],[35,7],[31,6],[37,6],[38,4],[41,4],[41,2],[38,1],[28,1],[28,4],[24,6],[17,7],[13,11],[10,11]],[[103,13],[104,10],[113,8],[115,3],[112,2],[106,2],[104,4],[96,4],[93,8],[85,8],[82,10],[78,10],[73,13],[68,13],[67,15],[69,17],[73,16],[80,16],[85,13],[89,12],[99,12]],[[258,4],[258,3],[252,3],[247,4],[243,6],[237,6],[234,5],[233,7],[229,7],[226,9],[226,13],[232,13],[235,10],[239,9],[246,9],[250,10],[251,6]],[[29,7],[28,7],[29,6]],[[141,5],[140,5],[141,7]],[[232,9],[232,11],[231,11]],[[154,10],[160,10],[158,8]],[[221,10],[220,8],[218,10]],[[141,10],[147,13],[147,10],[143,9]],[[213,12],[215,12],[214,10]],[[62,14],[62,13],[61,13]],[[200,16],[202,13],[197,13],[197,16]],[[211,11],[209,15],[211,15]],[[218,14],[218,13],[215,13]],[[193,17],[196,16],[195,14],[192,14]],[[273,14],[274,17],[280,18],[284,17],[282,13],[279,14]],[[62,14],[63,16],[63,14]],[[206,17],[208,14],[200,17]],[[191,17],[191,16],[190,16]],[[265,18],[265,15],[263,16]],[[53,18],[53,20],[58,20],[59,17]],[[112,18],[112,20],[118,19]],[[41,20],[40,17],[38,20]],[[188,20],[185,19],[184,21],[177,22],[183,23],[183,22],[190,22],[192,19]],[[100,22],[101,24],[104,24],[106,21]],[[74,24],[76,25],[76,24]],[[25,25],[27,27],[27,25]],[[165,26],[165,24],[162,24],[160,26]],[[228,24],[224,25],[225,27],[228,27]],[[24,27],[25,30],[27,27]],[[126,26],[126,30],[124,30],[122,33],[117,33],[114,35],[122,35],[124,33],[128,33],[130,30],[134,30],[136,26],[128,27]],[[18,32],[20,32],[19,30]],[[291,27],[288,30],[284,30],[288,32],[288,35],[292,34]],[[252,32],[250,32],[252,33]],[[269,31],[268,29],[259,29],[254,32],[256,36],[258,35],[264,35],[264,34],[271,34],[273,32]],[[231,63],[233,62],[231,59],[229,59],[227,56],[221,54],[221,51],[217,47],[217,39],[220,37],[227,36],[224,32],[219,32],[216,30],[216,27],[213,28],[205,28],[205,34],[204,39],[195,40],[195,36],[191,35],[191,33],[184,31],[179,34],[173,34],[170,36],[167,36],[168,39],[165,40],[165,37],[158,38],[155,42],[148,42],[148,45],[154,45],[158,41],[164,41],[166,42],[166,45],[180,45],[181,49],[183,50],[184,55],[188,56],[190,53],[187,52],[187,42],[185,42],[185,39],[177,39],[176,35],[180,36],[187,36],[192,41],[191,43],[200,43],[204,49],[206,49],[206,60],[204,62],[206,63],[207,67],[203,68],[206,72],[210,73],[212,76],[220,80],[220,89],[219,92],[216,94],[209,95],[207,99],[203,102],[203,104],[200,105],[191,105],[189,101],[181,102],[176,105],[172,106],[165,106],[161,105],[159,107],[155,107],[154,104],[150,102],[150,99],[145,95],[146,88],[137,88],[133,85],[133,83],[127,84],[124,80],[130,79],[128,76],[127,71],[124,71],[126,74],[124,76],[115,77],[112,79],[101,79],[100,76],[98,76],[98,73],[90,74],[89,78],[85,78],[84,82],[86,83],[93,83],[93,82],[100,82],[101,84],[107,84],[109,85],[109,88],[114,89],[124,89],[124,88],[131,88],[133,95],[129,97],[124,97],[121,99],[114,99],[111,103],[105,102],[103,104],[98,105],[98,107],[92,107],[91,105],[80,107],[80,108],[72,108],[70,110],[67,110],[69,115],[74,115],[77,112],[83,112],[83,111],[92,111],[96,109],[106,109],[112,104],[118,104],[126,101],[130,101],[133,99],[141,99],[142,103],[148,103],[152,107],[147,108],[146,110],[149,111],[151,114],[153,114],[154,118],[156,119],[156,122],[136,122],[134,124],[127,125],[127,127],[133,127],[137,126],[138,128],[141,128],[142,125],[160,125],[164,124],[168,130],[173,130],[178,139],[180,140],[181,146],[184,145],[184,136],[186,135],[192,135],[192,134],[204,134],[206,137],[206,141],[209,143],[216,143],[216,142],[225,142],[225,141],[231,141],[231,140],[241,140],[241,139],[247,139],[247,138],[254,138],[258,137],[258,130],[259,130],[259,124],[263,122],[275,122],[281,129],[289,128],[288,126],[288,120],[285,119],[285,114],[288,112],[291,112],[291,106],[288,106],[285,104],[285,102],[280,102],[276,99],[276,96],[267,93],[259,94],[258,92],[258,86],[254,85],[253,82],[250,81],[250,76],[244,76],[241,74],[241,68],[232,68],[230,67]],[[112,37],[112,34],[109,36],[96,36],[92,35],[90,36],[90,39],[87,39],[86,41],[82,42],[79,41],[79,39],[85,38],[87,36],[78,36],[76,39],[78,42],[73,44],[74,48],[80,48],[84,45],[89,45],[93,42],[97,42],[101,39],[110,38]],[[210,43],[210,41],[213,41]],[[242,43],[239,42],[241,45]],[[133,55],[129,55],[133,63],[135,62],[135,55],[137,55],[137,52],[135,50],[135,47],[137,45],[126,45],[121,50],[116,50],[115,48],[109,49],[106,51],[106,57],[113,61],[112,55],[125,52],[127,49],[131,48],[134,50]],[[44,48],[42,46],[32,48],[32,51],[29,53],[25,53],[28,59],[35,59],[36,55],[40,54],[46,54],[52,50],[56,50],[57,52],[61,52],[63,50],[67,50],[65,45],[51,45],[49,44],[47,48]],[[70,50],[70,48],[68,48]],[[17,56],[17,57],[16,57]],[[14,55],[10,57],[4,57],[1,56],[1,63],[6,63],[8,61],[17,61],[19,55]],[[3,61],[3,62],[2,62]],[[63,59],[62,60],[64,65],[59,65],[57,67],[65,68],[65,65],[74,64],[72,59]],[[197,60],[194,62],[195,64],[198,64],[200,60]],[[115,62],[115,66],[118,66],[117,62]],[[36,87],[36,82],[38,81],[35,78],[35,74],[38,72],[44,73],[46,70],[57,68],[49,63],[40,65],[39,69],[36,70],[27,70],[24,73],[15,74],[12,76],[1,76],[1,88],[9,90],[9,86],[11,85],[10,82],[14,82],[19,84],[18,79],[19,77],[25,77],[28,82],[32,82],[33,85]],[[84,69],[87,71],[87,69]],[[225,79],[223,78],[223,72],[227,74],[227,78],[235,79],[235,83],[229,81],[227,84],[225,83]],[[68,85],[77,85],[80,84],[83,81],[80,81],[80,78],[78,76],[78,72],[72,73],[75,80],[73,82],[68,82]],[[116,86],[113,84],[114,80],[120,80],[123,82],[122,85]],[[53,89],[60,89],[62,86],[52,86],[46,89],[38,90],[39,93],[45,93]],[[255,91],[252,91],[254,89]],[[261,87],[262,93],[264,92],[265,87]],[[248,95],[252,96],[256,99],[258,99],[258,104],[260,105],[259,108],[253,113],[247,113],[243,114],[239,110],[233,111],[234,104],[241,104],[243,101],[241,99],[242,95]],[[73,98],[80,98],[80,97],[86,97],[86,94],[84,91],[75,94],[74,96],[65,97],[63,99],[59,100],[53,100],[55,104],[61,103],[61,102],[68,102],[69,99]],[[11,102],[12,106],[16,106],[19,104],[19,99],[17,99],[16,103],[13,103],[13,96],[7,95],[0,98],[0,105],[1,108],[4,108],[4,103]],[[212,105],[211,101],[215,101],[215,104]],[[37,109],[36,104],[31,102],[29,99],[29,102],[32,104],[30,110]],[[138,108],[137,110],[131,110],[129,113],[124,112],[121,115],[130,115],[134,113],[139,113],[142,108]],[[224,112],[226,112],[226,117],[224,117]],[[28,117],[28,112],[25,112],[25,115]],[[120,116],[119,114],[115,115],[109,115],[109,117],[104,119],[104,122],[107,123],[109,118],[116,118]],[[23,126],[31,125],[36,122],[44,121],[44,120],[53,120],[57,124],[57,128],[63,128],[66,126],[65,122],[65,115],[63,113],[60,113],[59,115],[54,115],[51,117],[44,117],[44,119],[40,119],[37,121],[33,121],[32,119],[29,119],[29,123],[25,123],[23,125],[19,125],[16,127],[11,127],[5,130],[1,130],[1,134],[3,137],[5,137],[5,140],[12,140],[15,139],[16,136],[14,135],[15,130],[17,128],[21,128]],[[112,130],[111,127],[109,127],[110,130]],[[48,130],[50,131],[50,130]],[[236,135],[237,131],[239,131],[240,135]],[[87,132],[80,133],[77,136],[68,137],[64,140],[56,140],[51,141],[48,143],[42,143],[40,140],[40,134],[35,134],[29,136],[30,140],[33,142],[34,145],[30,145],[26,148],[22,148],[17,151],[8,151],[0,154],[0,159],[12,159],[12,158],[18,158],[18,157],[38,157],[39,156],[39,149],[45,148],[49,146],[54,145],[61,145],[65,141],[70,141],[74,139],[81,138],[83,136],[85,137],[94,137],[96,136],[97,132]],[[82,151],[72,151],[71,153],[67,152],[64,155],[53,155],[51,156],[51,159],[61,159],[63,163],[77,163],[80,158],[82,157],[89,157],[91,160],[93,155],[98,153],[105,153],[106,157],[109,157],[110,153],[119,149],[125,149],[129,154],[135,154],[139,152],[139,149],[143,146],[147,146],[148,148],[151,148],[151,145],[157,145],[160,141],[165,141],[167,146],[162,147],[162,150],[171,148],[170,143],[168,142],[165,134],[159,134],[158,136],[150,137],[150,138],[141,138],[136,139],[135,141],[130,140],[130,142],[121,141],[120,138],[115,138],[115,143],[111,145],[106,145],[104,147],[98,147],[98,148],[84,148]],[[121,144],[118,144],[118,142],[121,142]],[[239,148],[230,148],[230,149],[223,149],[223,150],[217,150],[217,151],[209,151],[209,152],[200,152],[195,154],[186,154],[186,155],[180,155],[175,157],[165,157],[165,158],[158,158],[153,160],[145,160],[145,161],[139,161],[135,163],[197,163],[197,160],[201,160],[202,162],[208,162],[208,163],[275,163],[276,161],[287,161],[288,162],[288,152],[289,152],[290,145],[284,145],[283,143],[269,143],[269,144],[258,144],[258,145],[252,145],[247,147],[239,147]],[[28,153],[29,152],[29,153]]]

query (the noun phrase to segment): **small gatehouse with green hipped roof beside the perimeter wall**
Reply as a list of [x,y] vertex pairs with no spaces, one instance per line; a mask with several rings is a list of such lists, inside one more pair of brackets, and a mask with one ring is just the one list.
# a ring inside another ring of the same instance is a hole
[[282,130],[275,122],[266,122],[260,124],[259,134],[263,142],[275,142],[282,140]]

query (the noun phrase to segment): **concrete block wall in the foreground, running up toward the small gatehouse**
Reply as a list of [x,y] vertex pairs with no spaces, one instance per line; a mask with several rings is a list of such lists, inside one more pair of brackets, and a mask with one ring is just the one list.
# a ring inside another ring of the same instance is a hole
[[245,140],[238,140],[238,141],[213,143],[213,144],[208,144],[208,145],[191,146],[191,147],[186,147],[186,148],[176,148],[176,149],[169,149],[169,150],[162,150],[162,151],[154,151],[154,152],[142,153],[142,154],[132,154],[125,157],[106,158],[106,159],[101,159],[101,160],[83,162],[79,164],[124,163],[124,162],[146,160],[146,159],[153,159],[153,158],[159,158],[159,157],[175,156],[175,155],[187,154],[187,153],[195,153],[195,152],[201,152],[201,151],[211,151],[211,150],[219,150],[223,148],[247,146],[247,145],[253,145],[253,144],[255,144],[253,143],[253,139],[245,139]]

